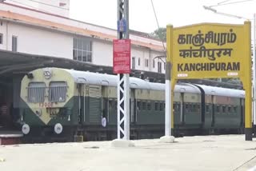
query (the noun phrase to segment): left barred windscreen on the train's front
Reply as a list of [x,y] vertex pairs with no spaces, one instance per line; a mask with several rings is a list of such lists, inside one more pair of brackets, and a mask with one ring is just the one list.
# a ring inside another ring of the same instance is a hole
[[45,100],[46,84],[44,82],[30,82],[27,101],[38,103]]

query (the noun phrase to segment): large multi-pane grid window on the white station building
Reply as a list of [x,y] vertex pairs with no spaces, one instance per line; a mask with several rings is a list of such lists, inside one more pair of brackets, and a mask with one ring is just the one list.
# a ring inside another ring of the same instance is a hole
[[73,39],[73,59],[81,62],[92,62],[92,42],[90,38]]

